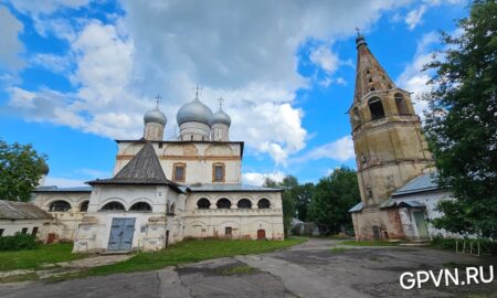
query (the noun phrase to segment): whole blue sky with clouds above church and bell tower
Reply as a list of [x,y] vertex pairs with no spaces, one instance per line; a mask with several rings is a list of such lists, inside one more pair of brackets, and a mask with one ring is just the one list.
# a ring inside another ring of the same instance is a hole
[[175,138],[200,84],[211,109],[226,98],[246,183],[355,168],[355,28],[421,113],[421,68],[467,3],[306,2],[0,1],[0,138],[46,153],[49,183],[77,185],[110,175],[114,139],[141,136],[157,94]]

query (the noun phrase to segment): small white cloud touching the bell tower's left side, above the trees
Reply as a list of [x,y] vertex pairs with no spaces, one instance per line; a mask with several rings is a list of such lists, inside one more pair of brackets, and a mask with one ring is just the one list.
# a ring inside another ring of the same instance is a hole
[[355,156],[352,138],[350,136],[345,136],[338,140],[315,147],[302,157],[293,159],[292,162],[300,163],[324,158],[343,162],[355,158]]

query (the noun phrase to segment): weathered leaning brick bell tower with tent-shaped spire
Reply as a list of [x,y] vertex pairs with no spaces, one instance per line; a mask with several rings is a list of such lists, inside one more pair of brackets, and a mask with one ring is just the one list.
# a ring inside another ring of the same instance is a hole
[[[401,238],[390,194],[423,173],[432,156],[409,92],[398,88],[358,34],[356,91],[349,109],[362,210],[353,212],[356,237]],[[383,204],[382,204],[383,203]]]

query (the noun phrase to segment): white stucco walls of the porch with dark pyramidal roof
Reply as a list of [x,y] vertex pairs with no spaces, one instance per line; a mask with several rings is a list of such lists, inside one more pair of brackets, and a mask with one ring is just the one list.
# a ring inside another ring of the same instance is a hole
[[[103,211],[109,202],[119,202],[125,211]],[[133,204],[147,202],[150,211],[130,211]],[[170,207],[175,205],[175,214]],[[169,210],[168,210],[169,207]],[[74,252],[105,251],[108,247],[114,219],[135,219],[133,249],[157,251],[168,243],[182,240],[180,214],[184,209],[184,194],[166,185],[96,185],[92,192],[88,212],[78,226]]]

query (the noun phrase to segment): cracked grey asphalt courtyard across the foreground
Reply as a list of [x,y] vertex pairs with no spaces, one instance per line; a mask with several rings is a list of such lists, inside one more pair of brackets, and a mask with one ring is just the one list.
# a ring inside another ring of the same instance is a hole
[[[89,277],[54,284],[4,284],[0,297],[497,297],[497,281],[425,284],[403,290],[404,272],[497,266],[495,258],[417,247],[349,247],[309,240],[290,249],[218,258],[159,272]],[[488,275],[487,275],[488,276]],[[474,296],[473,296],[474,297]]]

